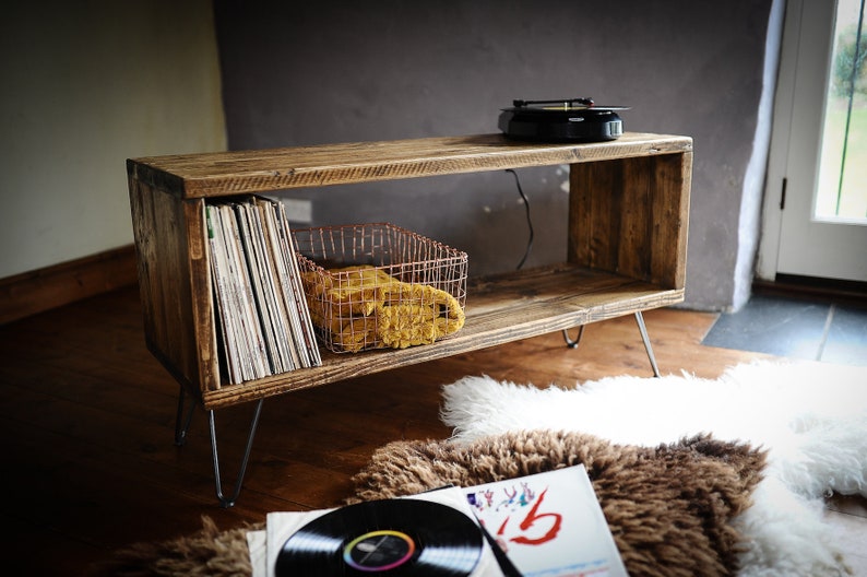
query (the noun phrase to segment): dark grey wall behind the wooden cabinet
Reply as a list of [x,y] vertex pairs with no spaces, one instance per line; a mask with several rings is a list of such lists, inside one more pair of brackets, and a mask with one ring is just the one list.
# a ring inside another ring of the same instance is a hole
[[[229,148],[495,132],[513,98],[630,105],[626,130],[694,139],[687,306],[736,308],[736,275],[752,271],[740,227],[761,192],[745,175],[764,153],[753,139],[772,5],[216,0]],[[562,260],[567,170],[519,175],[536,233],[526,266]],[[474,275],[513,269],[527,239],[506,173],[286,195],[314,199],[313,225],[389,221],[466,250]]]

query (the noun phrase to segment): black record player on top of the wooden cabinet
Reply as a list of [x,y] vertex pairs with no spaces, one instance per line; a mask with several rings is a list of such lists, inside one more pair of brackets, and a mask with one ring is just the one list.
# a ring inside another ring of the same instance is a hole
[[499,128],[515,140],[598,142],[623,133],[617,110],[628,106],[597,106],[592,98],[513,101],[500,113]]

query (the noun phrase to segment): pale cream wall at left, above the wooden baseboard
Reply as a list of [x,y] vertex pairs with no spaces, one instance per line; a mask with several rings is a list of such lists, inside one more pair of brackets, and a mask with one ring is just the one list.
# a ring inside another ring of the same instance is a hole
[[132,243],[126,160],[225,150],[210,0],[0,19],[0,279]]

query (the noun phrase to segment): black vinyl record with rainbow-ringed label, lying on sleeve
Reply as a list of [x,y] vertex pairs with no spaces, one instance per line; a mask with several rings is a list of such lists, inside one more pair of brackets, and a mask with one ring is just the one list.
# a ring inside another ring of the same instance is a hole
[[411,498],[372,501],[301,527],[283,544],[275,575],[466,577],[482,552],[482,529],[458,509]]

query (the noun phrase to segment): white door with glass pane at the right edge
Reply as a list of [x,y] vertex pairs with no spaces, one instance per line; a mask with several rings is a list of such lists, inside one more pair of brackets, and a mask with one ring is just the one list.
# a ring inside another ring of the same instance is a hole
[[785,2],[760,278],[867,282],[864,19],[839,4]]

